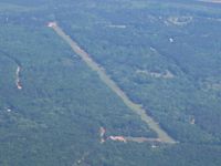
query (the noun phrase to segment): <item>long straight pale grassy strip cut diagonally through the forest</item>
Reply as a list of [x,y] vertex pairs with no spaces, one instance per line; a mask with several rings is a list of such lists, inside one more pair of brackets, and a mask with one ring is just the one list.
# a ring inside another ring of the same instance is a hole
[[81,49],[78,44],[74,42],[67,34],[65,34],[65,32],[56,23],[51,23],[50,28],[52,28],[92,70],[97,72],[99,79],[122,98],[125,105],[138,114],[140,118],[158,134],[158,139],[160,139],[162,143],[177,143],[158,125],[158,123],[156,123],[150,116],[147,115],[147,112],[141,107],[141,105],[130,101],[129,97],[118,87],[118,85],[105,73],[105,71],[96,62],[93,61],[90,54]]

